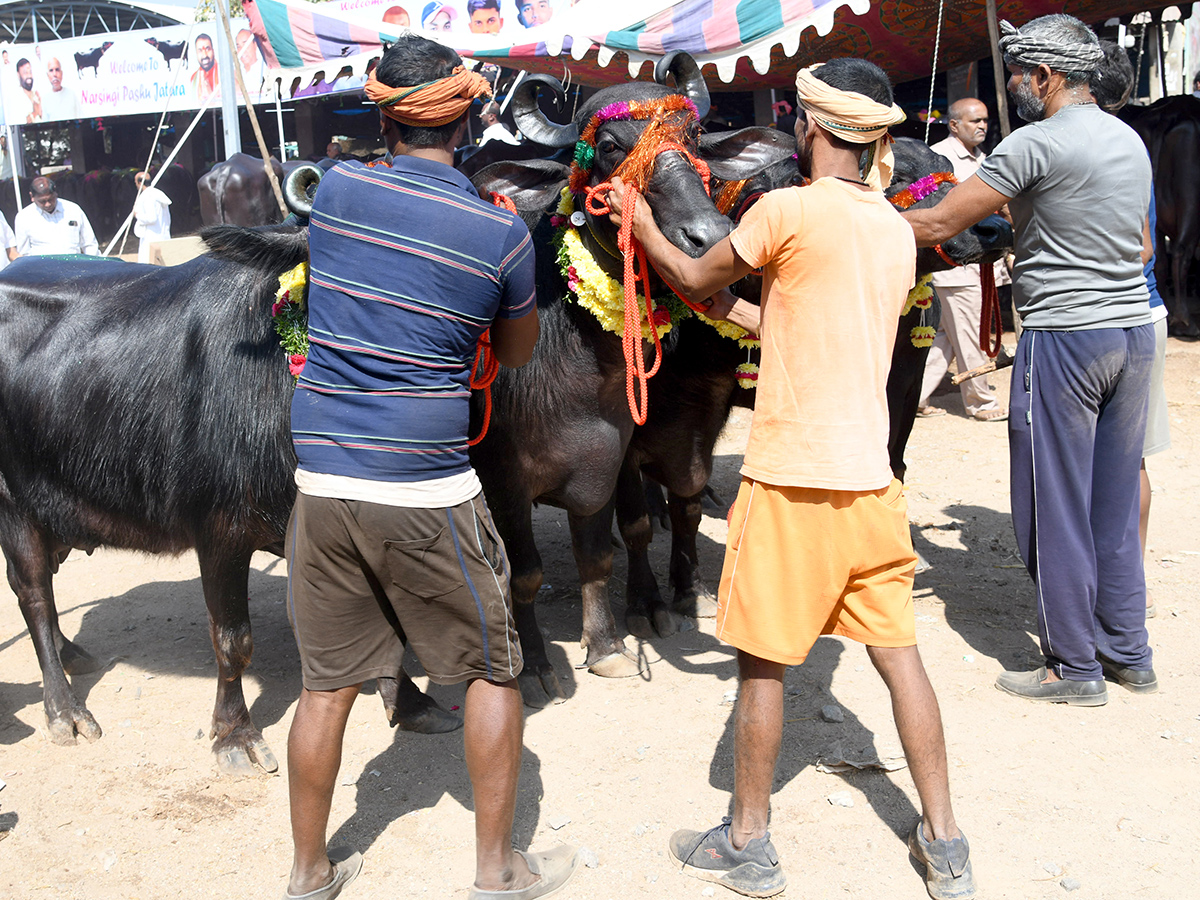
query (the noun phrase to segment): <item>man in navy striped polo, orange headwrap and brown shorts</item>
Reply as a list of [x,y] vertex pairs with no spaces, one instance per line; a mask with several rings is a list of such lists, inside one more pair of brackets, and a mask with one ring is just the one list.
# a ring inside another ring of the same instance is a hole
[[337,896],[361,868],[325,844],[342,733],[362,682],[400,671],[404,641],[432,682],[468,683],[472,898],[541,896],[576,864],[570,847],[511,848],[522,659],[504,545],[467,455],[469,380],[488,329],[500,364],[528,362],[538,311],[524,223],[451,168],[487,92],[454,50],[401,36],[367,84],[392,164],[340,163],[313,204],[287,541],[304,667],[288,738],[292,898]]

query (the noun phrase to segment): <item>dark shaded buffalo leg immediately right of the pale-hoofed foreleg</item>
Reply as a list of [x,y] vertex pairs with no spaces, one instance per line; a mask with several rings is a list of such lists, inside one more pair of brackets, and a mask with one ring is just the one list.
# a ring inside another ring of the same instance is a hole
[[[658,580],[650,568],[650,541],[654,526],[650,523],[648,485],[642,473],[628,457],[617,479],[617,527],[629,557],[629,576],[625,583],[625,628],[635,637],[649,640],[658,632],[668,637],[679,630],[671,610],[659,592]],[[659,497],[662,488],[654,484]],[[664,504],[665,505],[665,504]],[[653,629],[652,629],[653,625]]]

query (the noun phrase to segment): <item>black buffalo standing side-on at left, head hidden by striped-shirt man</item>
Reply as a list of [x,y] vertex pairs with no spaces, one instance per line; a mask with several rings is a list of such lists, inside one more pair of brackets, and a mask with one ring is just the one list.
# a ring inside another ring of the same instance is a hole
[[[0,547],[42,670],[52,740],[101,736],[66,673],[98,664],[59,629],[52,578],[71,548],[199,557],[217,660],[223,772],[277,767],[241,674],[251,554],[281,552],[295,497],[293,379],[271,324],[300,228],[215,228],[173,268],[19,259],[0,277]],[[397,673],[401,676],[401,673]],[[380,679],[394,721],[457,721],[406,678]]]

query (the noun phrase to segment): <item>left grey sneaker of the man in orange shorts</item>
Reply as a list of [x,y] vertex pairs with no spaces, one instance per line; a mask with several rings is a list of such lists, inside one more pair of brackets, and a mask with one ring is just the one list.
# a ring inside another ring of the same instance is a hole
[[671,835],[671,856],[694,878],[714,881],[746,896],[774,896],[787,887],[787,877],[770,834],[734,850],[730,842],[732,821],[726,816],[707,832],[676,832]]

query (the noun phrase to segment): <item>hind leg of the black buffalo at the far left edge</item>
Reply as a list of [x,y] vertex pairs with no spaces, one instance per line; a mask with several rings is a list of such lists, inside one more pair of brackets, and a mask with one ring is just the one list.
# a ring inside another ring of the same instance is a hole
[[42,670],[46,725],[55,744],[76,743],[76,734],[96,740],[103,732],[79,702],[64,671],[64,661],[84,662],[91,658],[62,637],[59,612],[54,606],[50,547],[46,535],[12,514],[4,516],[4,553],[8,563],[8,584],[17,595],[20,614],[37,650]]

